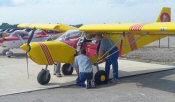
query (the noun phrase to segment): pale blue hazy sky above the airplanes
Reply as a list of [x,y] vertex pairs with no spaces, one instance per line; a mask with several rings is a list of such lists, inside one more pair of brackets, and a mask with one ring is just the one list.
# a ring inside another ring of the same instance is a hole
[[0,0],[0,23],[102,24],[155,22],[175,0]]

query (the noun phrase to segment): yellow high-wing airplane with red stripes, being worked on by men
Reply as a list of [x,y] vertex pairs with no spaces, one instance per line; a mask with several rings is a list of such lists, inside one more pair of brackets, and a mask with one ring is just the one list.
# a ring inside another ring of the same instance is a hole
[[[170,21],[171,9],[162,8],[156,23],[88,24],[80,27],[78,30],[66,32],[55,41],[32,43],[29,41],[28,44],[22,45],[21,49],[25,50],[35,63],[46,65],[46,68],[38,74],[38,82],[43,85],[47,84],[50,80],[47,66],[54,63],[67,63],[71,65],[74,61],[74,54],[79,48],[86,50],[87,56],[90,57],[92,63],[97,61],[98,55],[95,53],[98,45],[93,40],[92,42],[86,42],[86,36],[103,34],[104,37],[110,38],[116,42],[121,56],[161,38],[175,35],[175,22]],[[20,24],[18,27],[25,28],[26,24]],[[53,24],[33,24],[30,28],[47,30],[64,29],[64,27]],[[104,59],[101,61],[103,62]],[[63,74],[72,74],[73,69],[70,65],[63,65],[62,70],[65,72]],[[106,83],[107,76],[105,71],[98,68],[97,70],[95,82],[97,84]]]

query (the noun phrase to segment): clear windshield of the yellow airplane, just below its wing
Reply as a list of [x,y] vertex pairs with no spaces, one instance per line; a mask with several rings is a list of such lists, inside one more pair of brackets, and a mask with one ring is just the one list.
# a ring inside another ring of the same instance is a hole
[[81,36],[82,33],[83,32],[79,30],[69,30],[63,35],[61,35],[59,38],[57,38],[56,41],[77,39]]

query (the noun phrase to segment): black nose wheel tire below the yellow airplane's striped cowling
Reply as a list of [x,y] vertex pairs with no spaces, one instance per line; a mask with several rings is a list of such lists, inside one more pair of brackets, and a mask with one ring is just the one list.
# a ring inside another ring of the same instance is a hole
[[47,71],[42,69],[38,76],[37,76],[37,80],[38,80],[38,83],[41,84],[41,85],[45,85],[45,84],[48,84],[49,81],[50,81],[50,73],[48,74],[48,77],[46,79],[46,73]]

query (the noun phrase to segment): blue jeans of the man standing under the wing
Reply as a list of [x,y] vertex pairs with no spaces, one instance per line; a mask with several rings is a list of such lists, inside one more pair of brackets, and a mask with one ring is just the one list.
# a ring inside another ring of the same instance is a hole
[[[114,48],[109,52],[109,55],[113,54],[116,52],[118,48]],[[109,78],[109,72],[110,72],[110,66],[112,64],[113,68],[113,79],[118,79],[118,56],[119,56],[119,51],[116,52],[115,54],[111,55],[107,60],[106,60],[106,65],[105,65],[105,71],[108,75]]]

